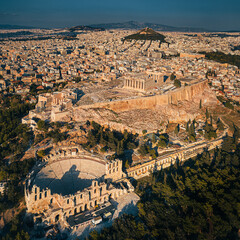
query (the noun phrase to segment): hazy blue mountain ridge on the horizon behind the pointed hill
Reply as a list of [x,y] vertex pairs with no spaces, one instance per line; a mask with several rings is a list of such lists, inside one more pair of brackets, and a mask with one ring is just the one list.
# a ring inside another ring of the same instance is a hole
[[142,29],[151,28],[156,31],[171,31],[171,32],[209,32],[207,29],[203,28],[193,28],[193,27],[172,27],[156,23],[139,23],[136,21],[129,21],[123,23],[104,23],[104,24],[92,24],[90,27],[105,28],[105,29]]

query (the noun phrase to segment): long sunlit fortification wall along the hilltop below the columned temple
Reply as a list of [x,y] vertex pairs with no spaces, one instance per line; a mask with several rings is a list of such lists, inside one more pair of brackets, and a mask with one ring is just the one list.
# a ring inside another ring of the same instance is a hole
[[[89,108],[107,108],[115,112],[134,109],[154,109],[159,105],[178,104],[179,101],[191,101],[195,95],[202,94],[206,88],[208,88],[207,81],[202,81],[191,86],[176,89],[168,94],[83,105],[73,108],[73,112]],[[77,121],[77,119],[75,120]]]

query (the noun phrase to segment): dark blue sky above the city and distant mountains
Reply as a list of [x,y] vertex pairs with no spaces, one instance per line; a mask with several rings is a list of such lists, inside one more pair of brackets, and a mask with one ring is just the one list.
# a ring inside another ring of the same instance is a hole
[[126,21],[240,31],[240,0],[0,0],[0,24],[51,28]]

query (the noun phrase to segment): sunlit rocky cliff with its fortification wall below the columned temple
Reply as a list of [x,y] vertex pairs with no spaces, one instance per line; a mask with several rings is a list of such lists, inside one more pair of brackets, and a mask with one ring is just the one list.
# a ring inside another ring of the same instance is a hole
[[74,108],[75,121],[94,120],[112,129],[141,133],[155,131],[168,122],[181,122],[199,115],[199,103],[214,105],[217,99],[206,81],[177,89],[169,94],[102,102]]

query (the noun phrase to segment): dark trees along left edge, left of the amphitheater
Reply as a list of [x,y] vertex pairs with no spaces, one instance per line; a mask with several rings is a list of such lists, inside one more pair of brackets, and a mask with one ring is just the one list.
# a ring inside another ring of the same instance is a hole
[[0,194],[3,212],[23,197],[21,180],[34,165],[33,159],[19,161],[33,139],[32,131],[21,123],[33,105],[22,101],[19,95],[1,96],[0,101],[0,181],[6,182],[5,192]]

